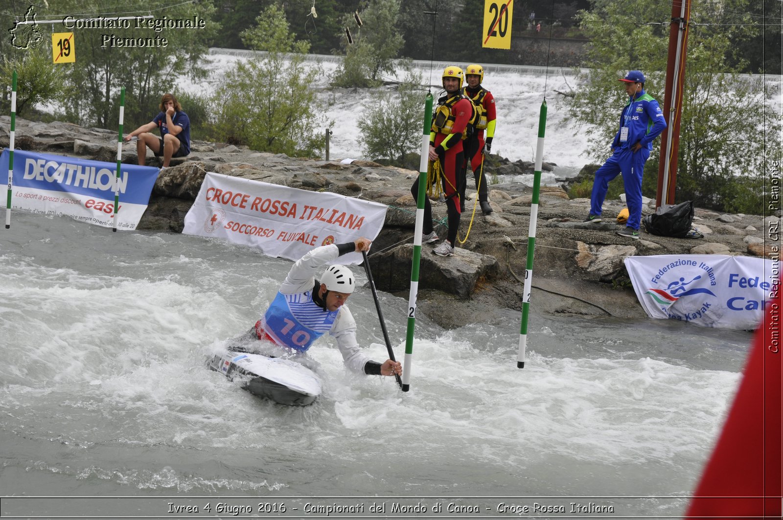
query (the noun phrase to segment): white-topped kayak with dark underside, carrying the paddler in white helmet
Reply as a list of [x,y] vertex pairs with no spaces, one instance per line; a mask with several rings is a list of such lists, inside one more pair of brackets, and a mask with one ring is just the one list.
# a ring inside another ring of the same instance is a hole
[[315,372],[290,359],[228,351],[207,359],[207,367],[240,381],[253,395],[275,403],[307,406],[321,395]]

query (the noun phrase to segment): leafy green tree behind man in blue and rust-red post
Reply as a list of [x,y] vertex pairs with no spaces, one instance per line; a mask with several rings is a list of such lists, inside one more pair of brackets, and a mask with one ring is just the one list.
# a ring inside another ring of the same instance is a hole
[[[743,14],[747,5],[747,0],[730,0],[691,13],[676,198],[693,200],[702,208],[761,213],[763,193],[750,200],[734,195],[742,186],[755,186],[758,180],[753,178],[763,175],[765,150],[780,153],[780,144],[770,143],[770,135],[780,132],[780,121],[763,110],[761,78],[738,74],[742,64],[727,61],[733,42],[756,30]],[[595,161],[610,153],[619,111],[627,102],[617,79],[627,70],[644,71],[645,89],[663,107],[669,30],[662,22],[669,20],[670,10],[670,5],[656,2],[600,0],[580,16],[591,39],[586,60],[590,69],[566,101],[573,121],[594,125],[588,152]],[[645,168],[643,193],[651,198],[657,188],[658,156],[655,146]]]

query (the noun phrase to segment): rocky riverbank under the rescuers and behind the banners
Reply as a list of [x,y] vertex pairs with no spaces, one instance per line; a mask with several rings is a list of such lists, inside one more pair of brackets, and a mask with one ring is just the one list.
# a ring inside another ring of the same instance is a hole
[[[9,117],[0,117],[0,146],[9,145]],[[43,153],[116,162],[117,132],[54,122],[16,119],[16,147]],[[135,164],[135,143],[126,144],[123,162]],[[512,168],[496,157],[497,168]],[[159,159],[147,157],[150,165]],[[384,229],[373,244],[370,265],[382,291],[407,298],[416,206],[410,186],[418,172],[370,161],[342,164],[255,152],[246,147],[194,141],[189,157],[172,161],[155,184],[150,205],[139,229],[182,231],[183,220],[206,172],[240,176],[302,190],[328,190],[388,205]],[[520,168],[529,168],[520,164]],[[492,168],[492,167],[490,167]],[[489,179],[493,179],[490,170]],[[500,175],[503,171],[496,171]],[[502,179],[502,177],[495,177]],[[472,177],[468,197],[474,196]],[[480,208],[473,214],[467,201],[456,255],[431,255],[424,245],[421,259],[418,309],[443,327],[459,327],[477,320],[502,320],[498,309],[521,309],[522,282],[527,258],[532,189],[521,183],[489,186],[491,215]],[[644,215],[655,211],[654,202]],[[721,254],[768,255],[769,222],[759,215],[726,215],[696,209],[695,227],[703,239],[657,237],[642,232],[641,240],[619,237],[612,217],[624,207],[620,200],[604,204],[604,222],[583,223],[590,200],[569,200],[561,187],[541,189],[531,301],[548,313],[643,315],[628,282],[623,258],[631,255]],[[433,201],[438,234],[446,235],[446,204]],[[780,215],[767,220],[780,221]],[[764,240],[767,240],[767,244]]]

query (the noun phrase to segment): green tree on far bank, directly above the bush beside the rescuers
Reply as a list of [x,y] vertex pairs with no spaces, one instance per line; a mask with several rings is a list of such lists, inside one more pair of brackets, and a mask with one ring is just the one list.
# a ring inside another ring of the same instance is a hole
[[[345,59],[337,70],[333,85],[341,87],[373,87],[381,85],[381,74],[395,72],[394,60],[402,49],[402,34],[395,24],[400,0],[368,0],[360,13],[363,25],[355,31],[353,44],[343,40]],[[353,15],[345,25],[354,23]],[[352,31],[353,32],[353,31]]]

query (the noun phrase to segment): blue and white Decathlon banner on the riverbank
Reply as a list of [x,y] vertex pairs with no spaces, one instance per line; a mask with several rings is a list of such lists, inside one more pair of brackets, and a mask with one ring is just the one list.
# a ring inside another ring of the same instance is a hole
[[[8,179],[9,155],[7,148],[0,154],[0,179]],[[122,164],[117,229],[139,225],[158,172],[150,166]],[[114,227],[116,176],[116,162],[14,150],[11,209]],[[0,198],[5,208],[6,197]]]

